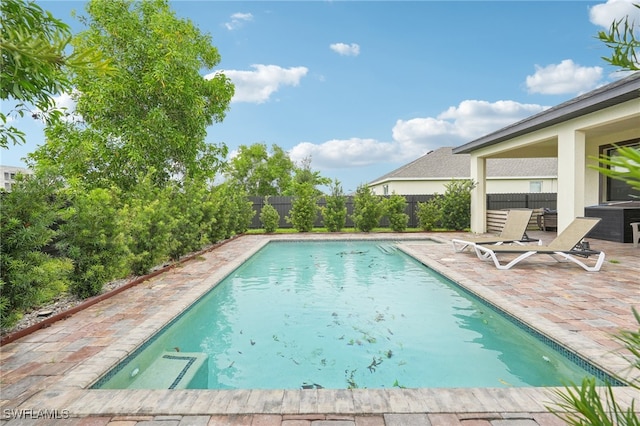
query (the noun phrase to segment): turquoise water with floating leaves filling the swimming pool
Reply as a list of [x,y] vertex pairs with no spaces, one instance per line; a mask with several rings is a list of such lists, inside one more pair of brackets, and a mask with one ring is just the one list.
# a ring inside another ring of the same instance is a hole
[[586,375],[393,243],[271,242],[95,387],[557,386]]

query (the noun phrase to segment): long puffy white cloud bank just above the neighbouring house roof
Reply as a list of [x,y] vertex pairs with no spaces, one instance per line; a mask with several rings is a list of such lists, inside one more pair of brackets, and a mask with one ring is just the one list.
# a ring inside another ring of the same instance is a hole
[[396,121],[391,142],[362,138],[321,144],[303,142],[293,147],[289,155],[294,161],[310,156],[313,166],[321,170],[406,162],[438,147],[469,142],[544,109],[514,101],[466,100],[437,117]]

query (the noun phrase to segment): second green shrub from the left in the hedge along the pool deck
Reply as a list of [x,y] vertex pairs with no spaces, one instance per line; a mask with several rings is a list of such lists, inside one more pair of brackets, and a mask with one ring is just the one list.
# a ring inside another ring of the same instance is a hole
[[129,272],[129,248],[115,189],[66,191],[69,208],[56,247],[73,261],[70,290],[80,297],[100,294],[107,282]]

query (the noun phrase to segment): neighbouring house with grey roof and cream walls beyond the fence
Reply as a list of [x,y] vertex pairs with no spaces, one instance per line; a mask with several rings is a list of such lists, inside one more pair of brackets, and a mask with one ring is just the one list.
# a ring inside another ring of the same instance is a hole
[[[439,148],[369,183],[377,195],[443,194],[453,179],[471,178],[471,155]],[[487,193],[556,192],[555,158],[491,159],[487,161]]]

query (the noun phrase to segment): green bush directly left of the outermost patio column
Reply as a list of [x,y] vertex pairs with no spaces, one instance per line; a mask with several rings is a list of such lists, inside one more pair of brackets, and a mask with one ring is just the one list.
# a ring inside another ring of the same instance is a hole
[[472,180],[452,180],[445,185],[445,193],[440,200],[442,226],[460,231],[471,225],[471,191],[475,188]]

